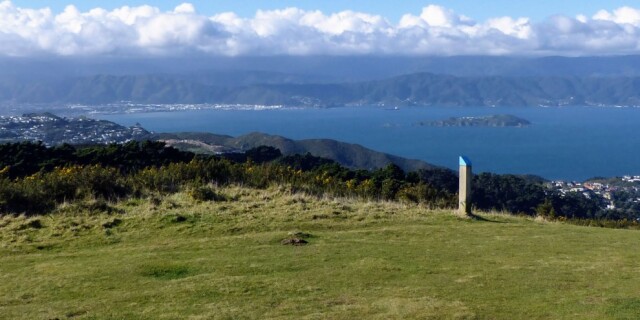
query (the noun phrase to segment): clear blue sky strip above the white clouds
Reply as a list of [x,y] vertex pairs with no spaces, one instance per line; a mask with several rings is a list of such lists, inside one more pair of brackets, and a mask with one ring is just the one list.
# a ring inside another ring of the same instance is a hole
[[[110,1],[14,1],[18,6],[28,8],[50,7],[54,12],[62,12],[67,5],[73,4],[82,11],[101,7],[115,9],[122,6],[153,5],[163,11],[169,11],[183,1],[148,1],[148,0],[110,0]],[[221,12],[235,12],[242,17],[251,17],[258,10],[284,9],[296,7],[304,10],[320,10],[324,13],[340,11],[358,11],[383,15],[392,22],[398,22],[407,13],[419,13],[429,4],[443,6],[460,14],[477,20],[511,16],[529,17],[540,21],[549,16],[562,14],[567,16],[593,15],[599,10],[613,10],[624,6],[640,8],[640,0],[205,0],[189,1],[197,11],[204,15]]]

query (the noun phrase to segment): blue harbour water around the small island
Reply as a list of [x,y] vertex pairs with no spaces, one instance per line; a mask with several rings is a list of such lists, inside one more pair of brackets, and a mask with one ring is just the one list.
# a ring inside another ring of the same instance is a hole
[[[512,114],[528,127],[428,127],[448,117]],[[458,156],[474,172],[534,174],[582,181],[640,175],[640,108],[379,107],[275,110],[194,110],[99,115],[156,132],[250,132],[292,139],[330,138],[456,168]]]

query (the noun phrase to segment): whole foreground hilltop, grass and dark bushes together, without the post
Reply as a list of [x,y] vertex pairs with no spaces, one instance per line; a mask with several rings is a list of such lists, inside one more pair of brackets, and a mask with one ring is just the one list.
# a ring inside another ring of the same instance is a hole
[[[272,147],[0,145],[8,319],[630,319],[635,220],[535,179]],[[625,229],[565,224],[616,226]]]

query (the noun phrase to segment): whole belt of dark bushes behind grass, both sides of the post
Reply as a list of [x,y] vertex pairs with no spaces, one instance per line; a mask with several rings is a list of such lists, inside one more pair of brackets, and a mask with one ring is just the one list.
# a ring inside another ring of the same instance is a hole
[[[78,149],[36,143],[0,145],[0,214],[42,214],[78,200],[117,202],[182,191],[197,201],[218,201],[221,198],[212,186],[230,184],[454,208],[457,180],[448,169],[405,173],[390,164],[373,171],[351,170],[310,154],[282,156],[272,147],[245,154],[196,156],[149,141]],[[552,219],[635,219],[632,213],[602,210],[602,199],[560,195],[515,175],[475,176],[472,205]]]

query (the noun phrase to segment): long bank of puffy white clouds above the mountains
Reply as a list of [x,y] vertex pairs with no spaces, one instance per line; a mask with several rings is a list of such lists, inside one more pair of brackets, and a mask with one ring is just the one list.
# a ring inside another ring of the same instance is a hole
[[398,23],[363,12],[325,14],[298,8],[205,16],[190,3],[150,6],[21,8],[0,2],[0,56],[32,55],[640,54],[640,10],[592,17],[496,17],[483,22],[428,5]]

